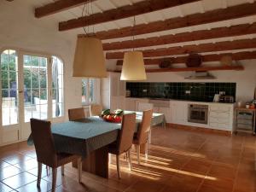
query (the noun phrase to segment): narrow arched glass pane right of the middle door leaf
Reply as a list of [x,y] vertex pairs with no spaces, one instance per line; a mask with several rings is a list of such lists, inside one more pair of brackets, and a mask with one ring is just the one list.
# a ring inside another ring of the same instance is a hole
[[63,100],[63,62],[52,56],[52,116],[61,117],[64,111]]

